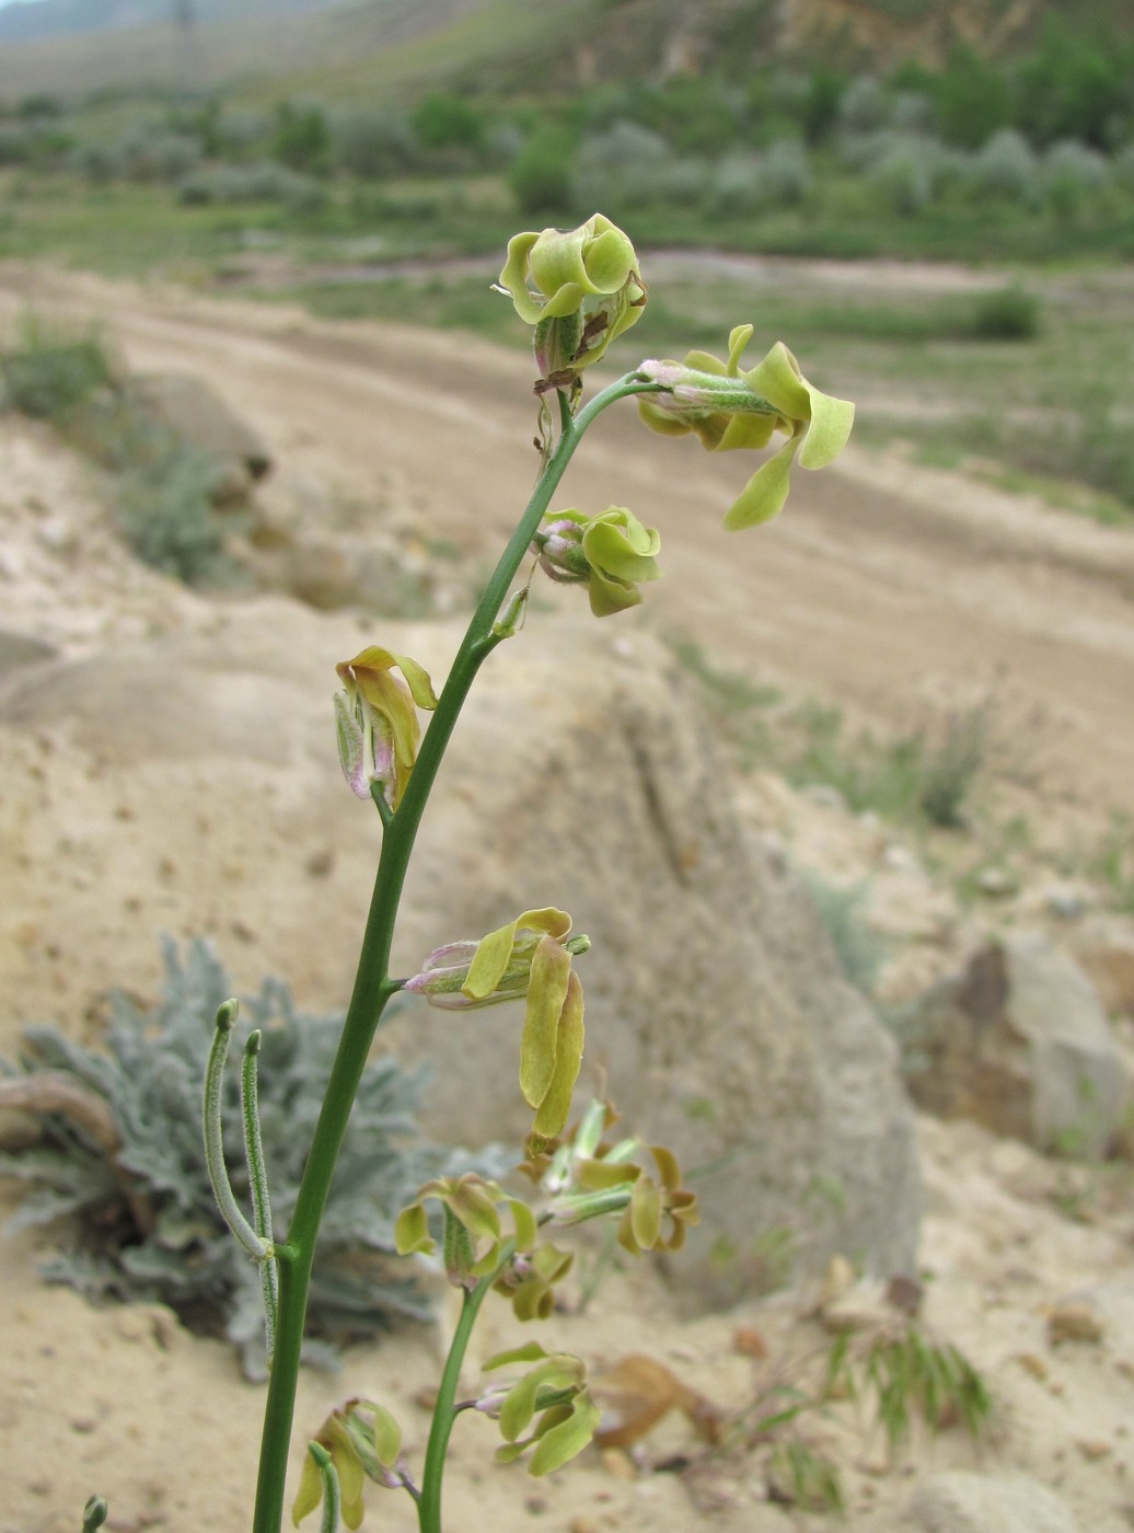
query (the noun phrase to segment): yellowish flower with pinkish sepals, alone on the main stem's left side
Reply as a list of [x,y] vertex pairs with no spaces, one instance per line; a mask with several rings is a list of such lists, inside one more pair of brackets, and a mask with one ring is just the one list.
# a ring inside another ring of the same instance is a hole
[[334,699],[343,776],[360,799],[380,783],[383,799],[397,809],[421,740],[417,710],[437,707],[432,682],[417,661],[377,644],[336,670],[346,688]]

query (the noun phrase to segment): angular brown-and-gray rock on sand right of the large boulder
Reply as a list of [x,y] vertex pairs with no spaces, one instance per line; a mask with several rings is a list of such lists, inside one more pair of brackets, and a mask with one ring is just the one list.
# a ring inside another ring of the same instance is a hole
[[1120,1124],[1119,1044],[1083,970],[1039,934],[990,943],[898,1026],[910,1093],[930,1113],[1088,1157]]

